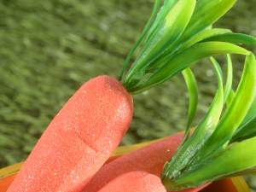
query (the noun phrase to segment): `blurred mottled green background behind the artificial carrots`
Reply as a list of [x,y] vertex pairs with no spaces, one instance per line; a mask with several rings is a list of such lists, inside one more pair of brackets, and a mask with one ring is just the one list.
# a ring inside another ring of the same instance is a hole
[[[26,159],[50,119],[84,81],[119,74],[152,3],[0,1],[0,167]],[[217,26],[256,35],[255,10],[255,0],[239,0]],[[238,80],[242,59],[235,59]],[[216,81],[207,61],[194,69],[201,90],[196,124],[212,101]],[[135,96],[134,120],[123,144],[182,130],[186,108],[186,87],[179,76]]]

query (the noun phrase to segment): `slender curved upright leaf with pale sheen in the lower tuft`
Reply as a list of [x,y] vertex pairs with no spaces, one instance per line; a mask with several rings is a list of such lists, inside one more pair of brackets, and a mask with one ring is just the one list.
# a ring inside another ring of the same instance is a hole
[[162,181],[165,183],[166,187],[170,185],[170,182],[172,183],[172,178],[178,177],[181,171],[189,165],[189,162],[194,158],[195,154],[200,150],[204,142],[207,141],[207,138],[211,136],[215,127],[218,125],[218,119],[224,106],[224,90],[221,68],[217,64],[213,65],[218,76],[218,91],[205,118],[202,119],[201,123],[196,127],[192,136],[177,149],[172,160],[164,166]]

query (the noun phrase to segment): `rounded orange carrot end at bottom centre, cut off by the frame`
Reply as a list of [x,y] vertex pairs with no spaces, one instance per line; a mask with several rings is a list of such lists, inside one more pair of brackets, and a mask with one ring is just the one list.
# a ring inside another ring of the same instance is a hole
[[99,192],[166,192],[160,177],[149,174],[148,172],[128,172],[121,175]]

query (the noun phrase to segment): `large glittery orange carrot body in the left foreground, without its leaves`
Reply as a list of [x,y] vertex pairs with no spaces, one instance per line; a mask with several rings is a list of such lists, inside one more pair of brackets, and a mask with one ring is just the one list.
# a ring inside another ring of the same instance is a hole
[[8,192],[80,191],[119,145],[132,105],[115,79],[85,83],[44,131]]

